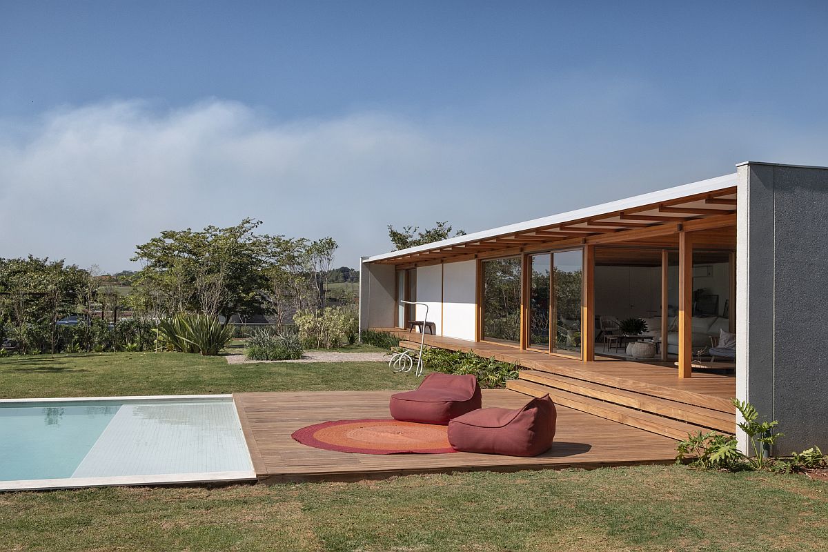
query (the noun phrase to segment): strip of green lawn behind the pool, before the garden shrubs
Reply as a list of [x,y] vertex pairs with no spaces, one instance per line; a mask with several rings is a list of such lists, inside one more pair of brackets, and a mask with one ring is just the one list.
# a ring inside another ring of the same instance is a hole
[[384,362],[230,365],[185,353],[99,353],[0,358],[0,398],[188,395],[241,391],[413,389],[419,378]]

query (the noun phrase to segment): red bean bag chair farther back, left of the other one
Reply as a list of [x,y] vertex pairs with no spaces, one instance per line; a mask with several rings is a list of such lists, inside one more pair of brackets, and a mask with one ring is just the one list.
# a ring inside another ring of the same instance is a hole
[[480,386],[471,375],[434,372],[416,391],[392,395],[388,408],[394,420],[446,425],[452,418],[480,408]]

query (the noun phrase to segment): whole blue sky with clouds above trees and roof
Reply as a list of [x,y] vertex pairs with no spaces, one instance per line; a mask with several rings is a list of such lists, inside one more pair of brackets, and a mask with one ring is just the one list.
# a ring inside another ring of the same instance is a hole
[[828,5],[724,3],[2,0],[0,256],[253,216],[354,266],[388,223],[828,165]]

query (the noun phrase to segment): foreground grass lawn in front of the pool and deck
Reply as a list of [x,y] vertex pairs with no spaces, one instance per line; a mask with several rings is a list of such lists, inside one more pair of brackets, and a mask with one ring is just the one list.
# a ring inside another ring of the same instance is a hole
[[0,495],[2,550],[826,550],[828,486],[684,467]]

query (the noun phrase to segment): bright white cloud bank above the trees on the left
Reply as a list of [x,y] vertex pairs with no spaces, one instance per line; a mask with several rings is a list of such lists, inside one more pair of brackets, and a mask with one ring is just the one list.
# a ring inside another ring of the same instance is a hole
[[449,158],[420,129],[381,113],[277,123],[218,100],[62,109],[25,132],[0,127],[3,255],[116,270],[161,229],[253,216],[271,233],[334,235],[353,265],[345,256],[356,247],[345,242],[361,233],[360,218],[387,199],[413,199],[407,190]]

